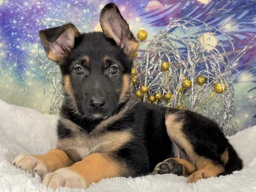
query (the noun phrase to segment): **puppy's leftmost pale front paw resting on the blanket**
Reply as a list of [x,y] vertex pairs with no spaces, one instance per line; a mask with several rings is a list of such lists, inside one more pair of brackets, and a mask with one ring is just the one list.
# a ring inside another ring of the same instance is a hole
[[49,173],[47,165],[43,161],[29,154],[18,155],[12,160],[12,164],[32,175],[37,173],[40,177],[44,177],[45,174]]

